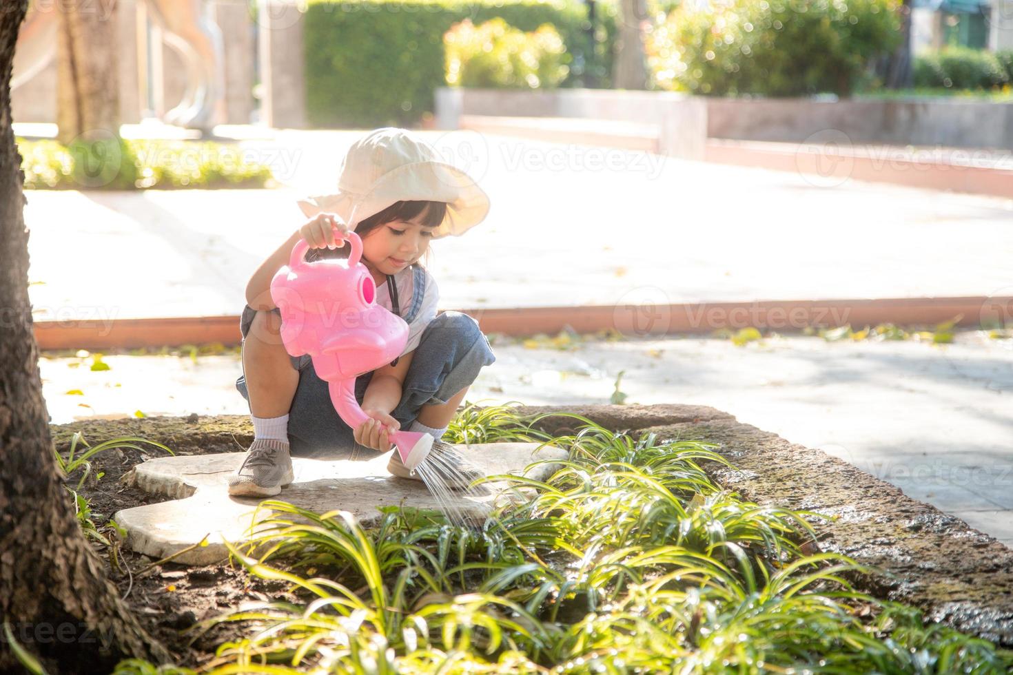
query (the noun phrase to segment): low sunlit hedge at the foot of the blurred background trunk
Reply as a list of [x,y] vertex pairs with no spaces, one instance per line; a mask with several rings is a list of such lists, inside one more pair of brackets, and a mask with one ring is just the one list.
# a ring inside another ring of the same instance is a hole
[[[17,139],[25,189],[268,187],[270,168],[236,146],[194,141]],[[252,151],[251,151],[252,152]]]

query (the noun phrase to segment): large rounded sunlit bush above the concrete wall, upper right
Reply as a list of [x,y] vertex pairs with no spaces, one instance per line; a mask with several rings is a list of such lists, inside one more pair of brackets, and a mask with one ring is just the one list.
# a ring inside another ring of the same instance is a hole
[[897,0],[684,3],[648,36],[656,86],[711,95],[849,95],[900,40]]

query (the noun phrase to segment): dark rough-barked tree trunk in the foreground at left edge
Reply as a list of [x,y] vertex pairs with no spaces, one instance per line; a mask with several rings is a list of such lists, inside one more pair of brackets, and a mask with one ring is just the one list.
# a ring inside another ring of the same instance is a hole
[[[106,672],[123,656],[168,659],[152,643],[77,524],[53,458],[28,301],[21,157],[10,75],[26,0],[0,12],[0,617],[61,673]],[[16,672],[0,630],[0,672]]]

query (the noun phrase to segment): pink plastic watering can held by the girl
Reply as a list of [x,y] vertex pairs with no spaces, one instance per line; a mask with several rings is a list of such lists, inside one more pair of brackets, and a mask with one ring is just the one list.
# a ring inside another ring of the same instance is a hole
[[[341,233],[335,230],[335,236]],[[352,232],[347,259],[306,262],[305,241],[270,280],[270,298],[282,312],[282,342],[293,356],[309,354],[329,385],[334,410],[353,429],[370,419],[356,400],[356,377],[389,363],[408,341],[408,324],[376,304],[376,283],[362,264],[363,241]],[[390,432],[390,429],[388,429]],[[425,459],[433,436],[394,431],[390,439],[409,471]]]

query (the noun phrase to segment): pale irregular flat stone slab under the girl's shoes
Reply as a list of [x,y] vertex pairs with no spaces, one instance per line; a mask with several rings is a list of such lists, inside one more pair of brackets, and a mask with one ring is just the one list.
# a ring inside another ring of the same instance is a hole
[[[535,480],[546,478],[554,465],[525,469],[544,459],[563,459],[565,450],[537,443],[484,443],[457,446],[486,476],[524,474]],[[124,509],[115,521],[127,529],[127,545],[156,559],[166,558],[200,542],[174,562],[208,565],[228,556],[225,541],[240,543],[272,511],[257,509],[260,498],[237,498],[228,494],[227,478],[243,460],[244,452],[156,457],[135,467],[127,482],[146,492],[175,497],[173,501]],[[294,457],[295,482],[270,499],[282,500],[317,513],[342,509],[359,522],[370,524],[380,517],[379,506],[402,505],[440,509],[441,503],[419,481],[399,479],[387,472],[389,452],[368,460],[326,460]],[[505,483],[486,484],[484,495],[463,496],[455,506],[480,516],[500,499],[510,499]],[[251,529],[252,528],[252,529]]]

